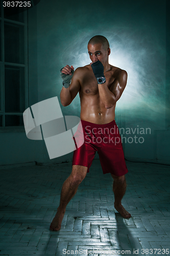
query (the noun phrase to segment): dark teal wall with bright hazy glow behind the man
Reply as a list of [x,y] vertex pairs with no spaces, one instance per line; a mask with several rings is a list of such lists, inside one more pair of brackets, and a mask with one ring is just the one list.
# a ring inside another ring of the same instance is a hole
[[[115,116],[118,127],[125,129],[125,158],[169,164],[168,11],[165,0],[161,4],[154,0],[41,0],[28,11],[30,106],[55,96],[60,101],[59,70],[65,65],[75,69],[87,65],[88,40],[104,35],[110,42],[109,63],[128,72],[127,87],[116,103]],[[61,109],[63,115],[80,116],[79,96],[69,106],[61,105]],[[28,140],[24,132],[19,136],[18,142],[30,152],[26,156],[23,150],[20,162],[71,160],[72,153],[50,160],[43,141]],[[9,159],[10,163],[16,162],[13,157]]]

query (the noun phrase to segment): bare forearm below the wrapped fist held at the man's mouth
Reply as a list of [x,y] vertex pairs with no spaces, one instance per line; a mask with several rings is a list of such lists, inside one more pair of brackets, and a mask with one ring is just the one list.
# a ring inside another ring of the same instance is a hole
[[98,84],[100,98],[106,109],[112,108],[116,103],[115,95],[108,89],[107,82]]

